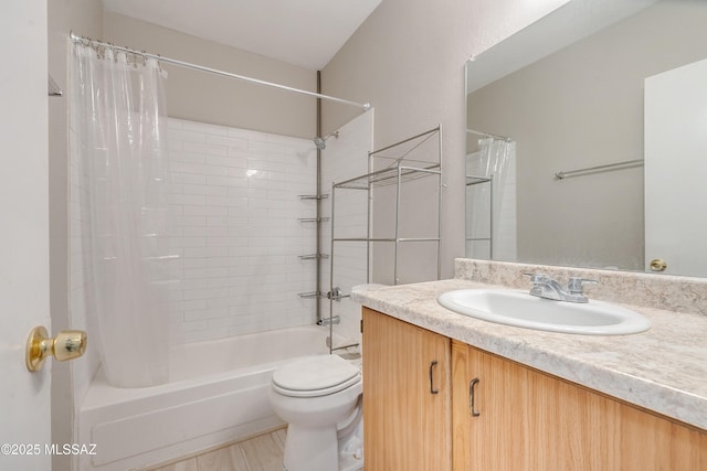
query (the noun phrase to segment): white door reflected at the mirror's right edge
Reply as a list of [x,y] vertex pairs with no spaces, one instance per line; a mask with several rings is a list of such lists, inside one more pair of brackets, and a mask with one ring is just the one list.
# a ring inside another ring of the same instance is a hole
[[706,84],[707,60],[645,81],[646,271],[707,276]]

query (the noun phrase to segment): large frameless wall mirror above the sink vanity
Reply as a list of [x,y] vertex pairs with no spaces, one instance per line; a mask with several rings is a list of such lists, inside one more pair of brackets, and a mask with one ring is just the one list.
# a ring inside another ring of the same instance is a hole
[[[672,239],[646,248],[655,216],[644,204],[663,199],[655,191],[684,192],[676,175],[707,174],[698,142],[701,158],[689,167],[680,168],[683,152],[663,153],[669,178],[644,179],[655,167],[647,140],[644,151],[654,109],[646,83],[704,62],[705,24],[704,0],[572,0],[469,61],[466,256],[640,271],[665,258],[665,274],[707,276],[706,238],[685,250],[686,229],[663,224]],[[666,131],[651,129],[651,137]],[[664,140],[682,140],[687,128],[671,132]],[[701,196],[682,199],[699,207],[673,212],[704,228],[707,194],[696,185]],[[678,263],[700,257],[701,272]]]

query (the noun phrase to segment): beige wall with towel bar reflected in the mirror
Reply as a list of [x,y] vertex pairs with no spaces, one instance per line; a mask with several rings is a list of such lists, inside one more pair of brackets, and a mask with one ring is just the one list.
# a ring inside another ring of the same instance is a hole
[[643,270],[643,168],[553,175],[643,158],[643,81],[704,57],[696,4],[656,3],[469,94],[469,128],[517,141],[518,260]]

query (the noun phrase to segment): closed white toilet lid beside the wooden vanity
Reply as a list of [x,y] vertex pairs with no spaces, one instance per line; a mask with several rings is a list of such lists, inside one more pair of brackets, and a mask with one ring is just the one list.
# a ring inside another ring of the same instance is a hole
[[360,381],[359,368],[338,355],[304,356],[273,373],[273,387],[295,397],[338,393]]

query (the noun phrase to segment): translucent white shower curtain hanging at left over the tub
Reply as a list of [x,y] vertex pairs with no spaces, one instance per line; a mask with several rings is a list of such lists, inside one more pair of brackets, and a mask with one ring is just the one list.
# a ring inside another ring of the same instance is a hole
[[106,378],[118,387],[168,381],[176,255],[163,82],[155,60],[73,45],[70,147],[80,175],[87,315]]

